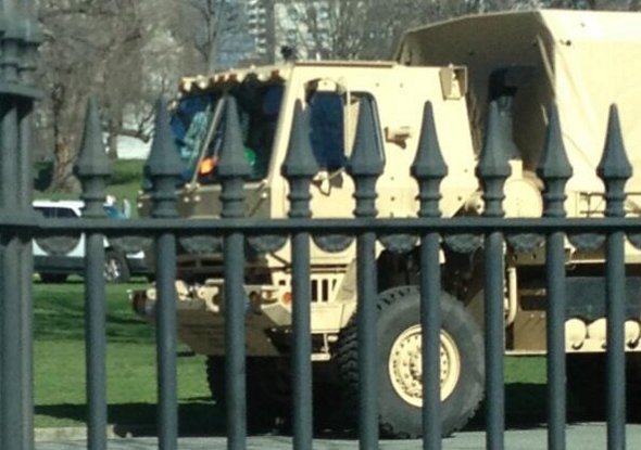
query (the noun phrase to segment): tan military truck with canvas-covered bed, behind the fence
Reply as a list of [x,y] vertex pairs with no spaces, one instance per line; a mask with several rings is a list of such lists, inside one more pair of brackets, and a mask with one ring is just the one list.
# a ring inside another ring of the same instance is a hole
[[[482,210],[475,166],[489,101],[500,110],[512,176],[505,210],[511,217],[542,213],[542,183],[535,169],[543,149],[546,108],[556,102],[574,176],[567,187],[570,217],[602,216],[603,184],[595,175],[611,103],[617,103],[629,150],[641,144],[641,15],[537,11],[464,17],[410,30],[393,62],[296,62],[185,78],[173,105],[172,127],[185,162],[178,190],[183,217],[212,218],[221,211],[216,157],[222,144],[223,95],[232,95],[253,173],[246,184],[246,214],[284,218],[288,184],[280,175],[294,104],[302,102],[320,171],[312,183],[313,217],[351,217],[354,185],[345,162],[354,141],[359,106],[374,99],[385,149],[377,183],[379,217],[415,217],[417,184],[410,177],[426,101],[449,167],[441,184],[445,217]],[[629,151],[634,167],[638,152]],[[641,175],[628,191],[641,192]],[[640,211],[630,195],[630,215]],[[139,203],[149,213],[149,198]],[[178,256],[178,333],[197,353],[209,356],[214,397],[224,395],[223,261],[219,242],[181,240]],[[355,245],[323,249],[312,244],[312,359],[343,390],[354,389]],[[443,434],[464,426],[483,390],[482,267],[478,252],[444,245],[441,398]],[[287,401],[291,323],[290,246],[249,252],[246,291],[250,402]],[[567,242],[568,320],[566,348],[602,353],[605,343],[603,250]],[[544,252],[506,252],[505,351],[545,352]],[[641,253],[627,246],[626,350],[640,351]],[[378,336],[381,365],[380,423],[395,436],[420,432],[422,365],[418,325],[418,261],[415,252],[379,246]],[[586,296],[586,288],[590,292]],[[594,294],[596,293],[596,294]],[[599,294],[601,293],[601,294]],[[153,319],[153,287],[133,294],[137,310]],[[590,361],[593,358],[588,359]],[[326,376],[327,375],[327,376]],[[336,390],[336,389],[334,389]],[[326,390],[325,393],[330,393]],[[279,397],[282,394],[284,397]],[[348,396],[349,397],[349,396]],[[250,411],[256,411],[250,408]],[[267,409],[261,409],[266,414]]]

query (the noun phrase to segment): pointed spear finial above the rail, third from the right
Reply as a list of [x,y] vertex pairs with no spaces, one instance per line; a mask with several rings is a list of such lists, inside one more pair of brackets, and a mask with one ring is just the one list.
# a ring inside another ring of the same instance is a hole
[[499,114],[497,102],[491,102],[485,144],[476,166],[476,176],[483,189],[482,198],[486,205],[483,215],[490,217],[501,217],[505,214],[502,205],[505,198],[503,185],[512,173],[507,155],[501,145]]

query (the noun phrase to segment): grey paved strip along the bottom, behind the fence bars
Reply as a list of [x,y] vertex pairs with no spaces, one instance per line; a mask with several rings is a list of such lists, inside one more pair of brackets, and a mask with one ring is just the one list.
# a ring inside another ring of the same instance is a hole
[[[627,426],[627,448],[641,449],[641,425]],[[39,436],[40,439],[43,436]],[[224,438],[181,438],[180,450],[225,450]],[[544,450],[548,447],[544,428],[508,430],[505,434],[507,450]],[[39,441],[36,450],[78,450],[86,449],[84,439]],[[158,448],[155,438],[115,438],[110,439],[109,450],[152,450]],[[341,439],[316,439],[315,450],[351,450],[357,449],[359,442]],[[601,423],[570,425],[567,428],[567,450],[592,450],[606,448],[606,427]],[[248,439],[248,450],[286,450],[291,449],[291,438],[284,436],[260,436]],[[419,440],[381,441],[381,450],[419,450]],[[443,450],[485,449],[483,432],[457,433],[454,437],[443,440]]]

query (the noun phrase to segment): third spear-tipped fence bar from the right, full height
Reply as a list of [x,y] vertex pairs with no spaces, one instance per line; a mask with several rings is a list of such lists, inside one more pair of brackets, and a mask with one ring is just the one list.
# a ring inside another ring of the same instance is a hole
[[[511,167],[501,142],[499,110],[490,104],[486,142],[476,169],[483,188],[485,217],[503,217],[503,185]],[[504,446],[505,391],[503,382],[504,318],[503,318],[503,233],[491,231],[485,240],[485,331],[486,331],[486,398],[488,449]]]

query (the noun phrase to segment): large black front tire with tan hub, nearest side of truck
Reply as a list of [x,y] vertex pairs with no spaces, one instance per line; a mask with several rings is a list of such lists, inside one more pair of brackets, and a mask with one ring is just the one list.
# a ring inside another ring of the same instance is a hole
[[[393,287],[378,297],[379,423],[381,434],[390,437],[416,438],[423,434],[422,386],[416,391],[411,383],[406,383],[410,377],[413,377],[413,382],[419,382],[420,358],[412,357],[410,351],[399,351],[405,348],[401,347],[401,343],[416,349],[420,342],[419,300],[420,294],[416,286]],[[441,419],[442,435],[449,436],[469,421],[482,399],[483,342],[474,318],[461,303],[445,293],[441,296],[441,389],[442,396],[445,396],[441,402]],[[392,355],[397,364],[390,363]],[[354,318],[341,332],[336,361],[347,390],[347,400],[355,401],[359,372]],[[402,362],[407,362],[407,365]],[[405,370],[403,367],[415,370]],[[350,408],[356,410],[355,404]]]

